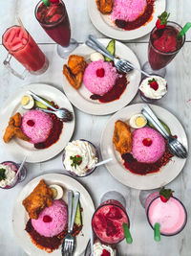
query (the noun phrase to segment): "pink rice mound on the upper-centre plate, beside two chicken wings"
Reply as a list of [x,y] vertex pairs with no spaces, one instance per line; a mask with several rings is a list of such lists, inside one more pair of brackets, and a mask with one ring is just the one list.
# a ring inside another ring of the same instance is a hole
[[[102,78],[97,77],[96,70],[103,68],[104,76]],[[104,60],[97,60],[91,62],[83,76],[83,82],[86,88],[98,95],[103,95],[110,91],[117,80],[117,69],[113,67],[110,62]]]

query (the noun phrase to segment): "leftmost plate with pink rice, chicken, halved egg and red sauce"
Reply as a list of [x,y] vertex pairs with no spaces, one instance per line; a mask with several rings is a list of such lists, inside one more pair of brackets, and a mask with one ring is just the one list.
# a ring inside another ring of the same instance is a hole
[[[72,113],[70,122],[62,122],[46,105],[33,99],[29,91],[55,108],[65,107]],[[74,132],[73,106],[58,89],[35,83],[13,93],[1,109],[0,143],[14,157],[37,163],[53,158],[68,144]]]

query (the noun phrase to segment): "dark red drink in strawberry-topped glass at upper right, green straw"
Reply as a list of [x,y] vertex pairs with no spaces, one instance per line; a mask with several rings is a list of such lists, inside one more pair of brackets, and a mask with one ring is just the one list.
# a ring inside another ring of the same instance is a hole
[[175,22],[167,22],[164,29],[153,29],[150,35],[148,58],[154,70],[165,67],[179,53],[185,41],[185,35],[177,39],[181,30]]

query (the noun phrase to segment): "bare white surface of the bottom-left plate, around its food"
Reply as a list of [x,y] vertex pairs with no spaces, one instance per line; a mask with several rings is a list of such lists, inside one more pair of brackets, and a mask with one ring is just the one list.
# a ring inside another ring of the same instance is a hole
[[[31,193],[37,183],[44,179],[49,185],[58,184],[64,189],[63,199],[67,202],[67,191],[73,190],[80,193],[80,203],[83,208],[82,220],[83,228],[81,232],[76,237],[76,248],[74,251],[74,256],[79,256],[86,248],[86,244],[90,239],[90,226],[92,221],[92,216],[95,212],[95,206],[92,198],[85,188],[74,178],[68,175],[59,174],[49,174],[41,175],[29,182],[23,190],[20,192],[18,198],[16,199],[13,210],[12,210],[12,227],[14,236],[18,240],[21,247],[29,254],[35,256],[47,256],[49,255],[46,251],[37,248],[30,239],[29,234],[25,231],[26,223],[29,220],[28,214],[22,205],[24,198],[27,198]],[[54,250],[50,255],[60,256],[61,248]]]

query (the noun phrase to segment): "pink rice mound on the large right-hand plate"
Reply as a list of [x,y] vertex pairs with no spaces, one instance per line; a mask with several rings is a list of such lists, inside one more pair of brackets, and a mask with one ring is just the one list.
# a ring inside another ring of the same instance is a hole
[[[144,146],[143,139],[149,138],[152,144]],[[154,128],[138,128],[133,132],[132,154],[138,162],[155,163],[163,155],[165,143],[163,137]]]

